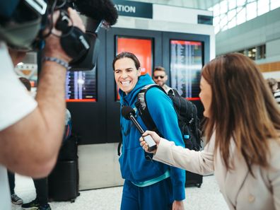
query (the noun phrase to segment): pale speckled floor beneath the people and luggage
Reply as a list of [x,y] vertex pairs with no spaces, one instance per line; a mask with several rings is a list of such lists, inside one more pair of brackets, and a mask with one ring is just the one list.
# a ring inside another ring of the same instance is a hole
[[[185,209],[228,209],[213,175],[204,177],[201,188],[187,187],[185,191],[187,197],[184,201]],[[30,202],[35,198],[33,181],[29,177],[16,175],[16,193],[24,202]],[[81,195],[76,198],[74,203],[51,202],[50,205],[52,210],[117,210],[121,197],[122,187],[92,189],[81,191]],[[12,209],[19,210],[21,206],[13,205]]]

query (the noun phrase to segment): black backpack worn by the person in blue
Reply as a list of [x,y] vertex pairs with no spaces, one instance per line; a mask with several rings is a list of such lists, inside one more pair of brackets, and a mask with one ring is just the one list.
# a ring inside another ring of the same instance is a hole
[[[146,106],[146,91],[150,88],[159,88],[166,93],[161,86],[151,84],[144,86],[137,95],[136,108],[139,110],[139,116],[146,125],[147,129],[158,133],[162,136],[156,124],[153,122],[148,107]],[[182,139],[185,147],[191,150],[199,151],[202,142],[202,132],[199,129],[199,118],[197,117],[197,107],[189,100],[180,96],[175,89],[168,91],[169,98],[173,101],[174,109],[177,114],[178,124],[181,130]]]

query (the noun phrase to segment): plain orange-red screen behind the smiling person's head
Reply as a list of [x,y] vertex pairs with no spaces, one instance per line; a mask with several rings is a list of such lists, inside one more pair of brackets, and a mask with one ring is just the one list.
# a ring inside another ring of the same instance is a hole
[[[139,59],[141,75],[150,74],[153,67],[153,39],[136,37],[116,37],[116,55],[121,52],[132,52]],[[116,98],[119,100],[118,88]]]

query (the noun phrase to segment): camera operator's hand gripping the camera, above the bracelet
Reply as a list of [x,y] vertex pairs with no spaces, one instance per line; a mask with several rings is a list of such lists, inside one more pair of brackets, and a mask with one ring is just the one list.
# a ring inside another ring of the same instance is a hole
[[[83,21],[81,20],[81,18],[78,16],[78,13],[72,9],[72,8],[68,8],[68,14],[69,17],[71,18],[71,23],[76,26],[77,28],[80,28],[83,32],[86,31],[85,26],[83,25]],[[59,18],[60,12],[59,11],[55,11],[53,14],[53,25],[55,25],[57,23],[57,20]],[[69,24],[71,24],[69,23]],[[59,37],[57,37],[57,35],[61,35],[62,33],[57,30],[56,28],[52,28],[52,34],[49,35],[47,37],[46,41],[46,45],[45,45],[45,56],[47,57],[56,57],[57,59],[62,59],[64,62],[69,63],[71,61],[71,57],[69,57],[66,52],[64,52],[64,49],[62,49],[62,46],[60,45],[60,39]],[[49,29],[47,29],[46,33],[49,31]]]

